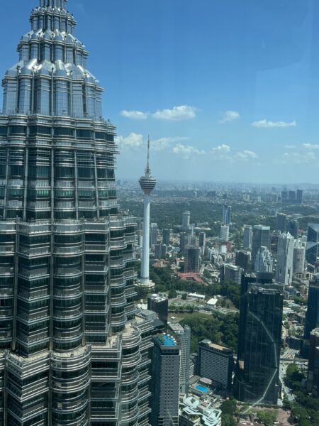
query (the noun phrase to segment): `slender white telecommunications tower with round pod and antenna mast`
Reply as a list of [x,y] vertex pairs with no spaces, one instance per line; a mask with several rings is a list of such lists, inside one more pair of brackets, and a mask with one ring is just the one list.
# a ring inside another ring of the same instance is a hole
[[142,265],[140,271],[140,286],[154,288],[155,284],[150,281],[150,194],[154,190],[156,179],[150,171],[150,138],[147,141],[147,165],[145,175],[140,178],[140,187],[144,192],[144,222],[142,239]]

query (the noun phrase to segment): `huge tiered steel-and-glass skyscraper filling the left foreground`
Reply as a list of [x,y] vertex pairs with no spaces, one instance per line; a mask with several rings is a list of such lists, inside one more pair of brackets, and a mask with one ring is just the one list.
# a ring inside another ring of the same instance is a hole
[[33,9],[3,80],[0,425],[148,425],[135,222],[118,209],[115,128],[66,4]]

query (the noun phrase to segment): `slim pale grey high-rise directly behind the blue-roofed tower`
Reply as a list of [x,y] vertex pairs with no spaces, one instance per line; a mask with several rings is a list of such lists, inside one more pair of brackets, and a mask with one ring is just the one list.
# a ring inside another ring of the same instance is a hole
[[191,356],[191,329],[179,323],[169,323],[169,328],[181,347],[181,363],[179,368],[179,386],[182,393],[189,392],[189,364]]

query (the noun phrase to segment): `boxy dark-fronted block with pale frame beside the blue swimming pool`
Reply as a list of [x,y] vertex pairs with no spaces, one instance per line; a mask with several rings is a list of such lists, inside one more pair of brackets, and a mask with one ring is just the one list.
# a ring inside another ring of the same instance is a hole
[[208,378],[213,386],[230,390],[234,355],[233,350],[203,340],[198,344],[198,376]]

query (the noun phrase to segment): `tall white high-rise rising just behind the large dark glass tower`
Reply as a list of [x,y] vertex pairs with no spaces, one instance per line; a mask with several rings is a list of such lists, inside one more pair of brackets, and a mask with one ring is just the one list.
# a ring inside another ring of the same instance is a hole
[[284,285],[292,283],[294,241],[289,232],[281,234],[278,239],[276,281]]

